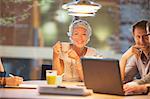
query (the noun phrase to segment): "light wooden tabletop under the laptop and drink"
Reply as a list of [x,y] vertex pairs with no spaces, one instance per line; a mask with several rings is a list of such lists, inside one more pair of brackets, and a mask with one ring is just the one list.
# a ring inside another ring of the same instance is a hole
[[[25,81],[25,84],[44,85],[46,81]],[[64,83],[74,84],[74,83]],[[81,84],[81,83],[76,83]],[[107,94],[94,93],[90,96],[68,96],[68,95],[45,95],[39,94],[37,89],[16,89],[16,88],[0,88],[0,98],[34,98],[34,99],[149,99],[148,95],[139,96],[117,96]]]

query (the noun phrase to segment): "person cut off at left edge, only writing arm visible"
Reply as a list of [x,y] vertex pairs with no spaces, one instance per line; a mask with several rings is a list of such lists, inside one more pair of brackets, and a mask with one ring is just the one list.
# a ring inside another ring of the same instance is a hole
[[6,73],[4,71],[1,59],[0,59],[0,86],[17,86],[23,82],[22,77],[5,77]]

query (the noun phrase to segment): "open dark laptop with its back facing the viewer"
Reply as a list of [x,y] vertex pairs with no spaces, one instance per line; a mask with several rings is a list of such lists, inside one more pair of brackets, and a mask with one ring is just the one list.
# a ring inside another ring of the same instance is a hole
[[119,60],[82,58],[81,62],[87,88],[93,89],[96,93],[125,95]]

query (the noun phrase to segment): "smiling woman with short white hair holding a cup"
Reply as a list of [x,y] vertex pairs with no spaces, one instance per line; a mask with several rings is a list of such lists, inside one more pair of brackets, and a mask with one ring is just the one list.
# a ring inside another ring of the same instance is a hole
[[58,41],[53,46],[53,69],[57,70],[58,75],[64,73],[65,81],[83,81],[80,58],[98,55],[94,48],[86,46],[91,27],[84,20],[76,20],[70,25],[68,36],[71,43]]

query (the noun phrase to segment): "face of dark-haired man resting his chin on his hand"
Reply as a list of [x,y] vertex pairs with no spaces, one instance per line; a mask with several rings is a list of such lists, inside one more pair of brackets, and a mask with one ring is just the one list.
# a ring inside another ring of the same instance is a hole
[[142,28],[135,28],[134,30],[134,40],[139,48],[147,48],[149,46],[149,37],[147,35],[147,31]]

